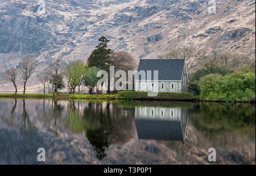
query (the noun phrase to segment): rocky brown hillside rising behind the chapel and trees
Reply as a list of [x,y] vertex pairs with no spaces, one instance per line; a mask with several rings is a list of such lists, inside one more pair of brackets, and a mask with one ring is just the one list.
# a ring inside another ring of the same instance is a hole
[[137,60],[184,46],[255,59],[254,0],[218,0],[216,14],[208,0],[45,2],[39,14],[36,0],[0,0],[0,72],[27,55],[38,58],[39,70],[54,58],[86,60],[102,35]]

